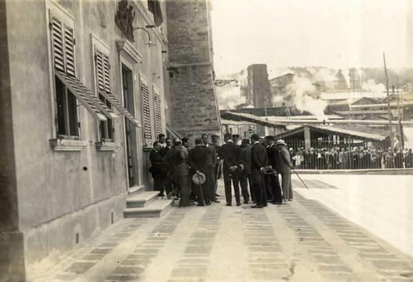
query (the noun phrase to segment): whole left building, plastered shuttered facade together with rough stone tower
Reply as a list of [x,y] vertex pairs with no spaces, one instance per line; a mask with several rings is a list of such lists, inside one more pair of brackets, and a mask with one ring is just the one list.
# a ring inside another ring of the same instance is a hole
[[155,27],[148,1],[0,1],[0,281],[121,219],[171,124],[220,131],[209,4],[168,7]]

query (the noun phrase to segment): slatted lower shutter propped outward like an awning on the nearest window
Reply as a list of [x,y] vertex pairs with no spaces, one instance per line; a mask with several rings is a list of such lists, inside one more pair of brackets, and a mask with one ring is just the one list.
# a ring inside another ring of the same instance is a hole
[[[56,76],[62,81],[62,83],[69,89],[72,94],[78,99],[79,102],[98,120],[107,120],[108,118],[118,118],[116,114],[109,109],[102,101],[97,98],[92,91],[87,89],[81,80],[78,80],[74,76],[68,76],[67,74],[55,69]],[[104,114],[102,114],[104,113]]]

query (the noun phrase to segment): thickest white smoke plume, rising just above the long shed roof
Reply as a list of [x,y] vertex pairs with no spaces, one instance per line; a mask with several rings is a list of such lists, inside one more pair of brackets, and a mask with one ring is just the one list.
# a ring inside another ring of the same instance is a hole
[[297,109],[313,113],[318,120],[328,119],[324,114],[328,104],[324,100],[313,98],[312,95],[316,94],[317,90],[310,79],[294,76],[293,83],[287,86],[287,92],[293,95]]

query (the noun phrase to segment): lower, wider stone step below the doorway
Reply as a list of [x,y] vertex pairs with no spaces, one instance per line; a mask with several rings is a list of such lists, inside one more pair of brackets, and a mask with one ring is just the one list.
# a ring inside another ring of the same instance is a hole
[[123,210],[123,217],[161,217],[171,208],[172,199],[156,198],[147,206],[142,208],[125,208]]

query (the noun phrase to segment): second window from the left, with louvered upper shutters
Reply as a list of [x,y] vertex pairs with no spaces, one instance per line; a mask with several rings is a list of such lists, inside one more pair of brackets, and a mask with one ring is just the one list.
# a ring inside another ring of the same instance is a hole
[[[109,109],[112,110],[112,103],[102,95],[102,91],[111,93],[110,87],[110,64],[109,56],[103,54],[96,47],[94,48],[94,61],[96,65],[96,81],[98,87],[98,97]],[[109,142],[114,141],[114,120],[108,118],[107,120],[101,120],[99,122],[100,140]]]

